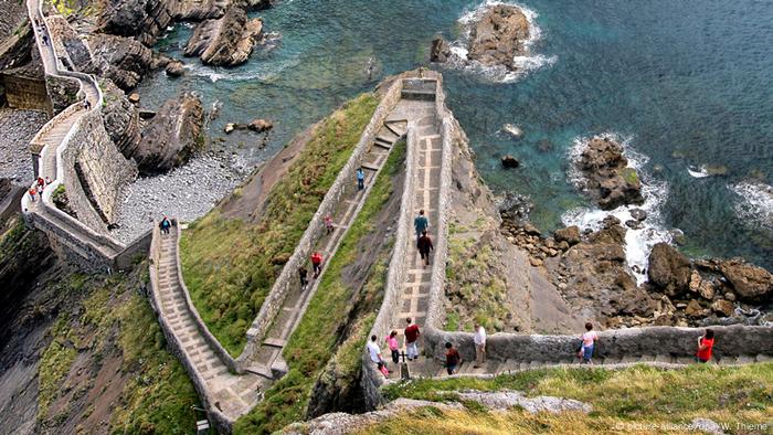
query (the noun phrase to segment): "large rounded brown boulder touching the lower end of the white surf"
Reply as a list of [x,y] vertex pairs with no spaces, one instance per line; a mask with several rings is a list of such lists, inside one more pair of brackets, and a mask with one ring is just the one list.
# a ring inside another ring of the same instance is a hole
[[690,283],[690,261],[667,243],[658,243],[649,253],[649,283],[676,296],[686,291]]

